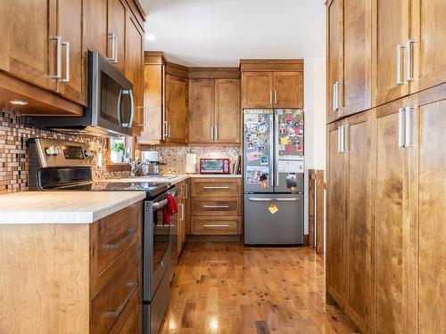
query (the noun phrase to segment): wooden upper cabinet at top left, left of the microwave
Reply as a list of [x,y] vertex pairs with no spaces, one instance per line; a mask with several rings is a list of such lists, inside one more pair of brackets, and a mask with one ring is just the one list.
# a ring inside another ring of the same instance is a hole
[[[81,115],[87,102],[83,10],[82,0],[2,1],[0,12],[9,18],[0,24],[2,107],[23,114]],[[12,100],[28,105],[13,106]]]

